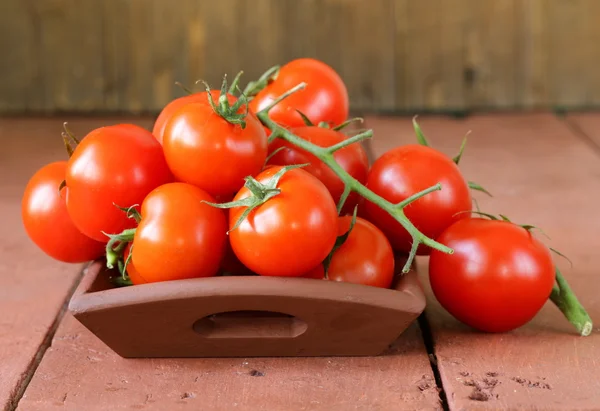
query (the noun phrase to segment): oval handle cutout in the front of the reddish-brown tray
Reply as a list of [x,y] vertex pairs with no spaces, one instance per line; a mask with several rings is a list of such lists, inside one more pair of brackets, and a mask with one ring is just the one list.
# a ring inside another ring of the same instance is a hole
[[205,338],[294,338],[307,324],[293,315],[272,311],[230,311],[196,321],[195,332]]

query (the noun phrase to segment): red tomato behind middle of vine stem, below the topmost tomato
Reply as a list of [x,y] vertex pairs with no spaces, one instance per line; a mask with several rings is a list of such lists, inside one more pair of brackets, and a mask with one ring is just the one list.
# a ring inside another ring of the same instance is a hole
[[[331,147],[341,143],[347,137],[339,131],[323,128],[323,127],[297,127],[291,130],[298,137],[313,143],[319,147]],[[269,153],[275,150],[286,147],[276,153],[269,159],[268,164],[291,165],[310,163],[303,170],[308,171],[317,177],[329,190],[333,200],[338,203],[342,192],[344,191],[344,183],[340,178],[321,160],[312,154],[288,143],[285,140],[277,139],[269,145]],[[360,143],[354,143],[347,147],[338,150],[334,154],[335,160],[344,170],[360,183],[365,183],[367,180],[367,172],[369,170],[369,159],[367,153]],[[357,193],[351,193],[344,205],[343,212],[352,212],[354,206],[358,203],[359,196]]]

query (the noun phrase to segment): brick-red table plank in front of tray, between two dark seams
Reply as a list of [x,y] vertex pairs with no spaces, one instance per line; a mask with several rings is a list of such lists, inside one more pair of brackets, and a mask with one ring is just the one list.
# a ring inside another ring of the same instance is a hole
[[[99,119],[73,128],[81,134],[103,123],[107,122]],[[43,127],[56,129],[59,135],[60,122]],[[62,155],[60,144],[53,155]],[[190,407],[435,410],[441,404],[416,324],[380,357],[126,360],[67,315],[18,409]]]

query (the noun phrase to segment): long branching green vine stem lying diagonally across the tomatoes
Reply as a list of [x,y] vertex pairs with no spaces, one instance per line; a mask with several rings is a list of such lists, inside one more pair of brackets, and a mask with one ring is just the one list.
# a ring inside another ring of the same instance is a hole
[[364,186],[358,180],[356,180],[354,177],[352,177],[350,174],[348,174],[346,172],[346,170],[344,170],[342,168],[342,166],[340,166],[335,161],[333,154],[337,150],[344,148],[350,144],[357,143],[357,142],[366,140],[368,138],[371,138],[373,136],[372,130],[367,130],[363,133],[357,134],[357,135],[355,135],[339,144],[336,144],[332,147],[319,147],[319,146],[316,146],[306,140],[301,139],[300,137],[296,136],[289,130],[279,126],[277,123],[275,123],[273,120],[271,120],[269,118],[269,110],[271,110],[271,108],[273,108],[275,105],[277,105],[279,102],[281,102],[286,97],[303,89],[304,87],[306,87],[306,83],[298,84],[296,87],[288,90],[287,92],[282,94],[279,98],[277,98],[273,102],[271,102],[271,104],[269,104],[263,110],[261,110],[257,113],[257,116],[260,119],[260,121],[263,123],[263,125],[266,126],[269,130],[271,130],[271,135],[269,136],[269,142],[275,140],[276,138],[281,138],[281,139],[289,142],[290,144],[293,144],[296,147],[299,147],[299,148],[303,149],[304,151],[311,153],[312,155],[314,155],[315,157],[320,159],[323,163],[325,163],[344,182],[345,188],[344,188],[342,197],[340,199],[340,202],[338,203],[338,212],[339,212],[339,210],[342,209],[342,206],[344,205],[344,202],[348,198],[348,195],[350,195],[351,192],[356,192],[357,194],[359,194],[366,200],[381,207],[381,209],[388,212],[396,221],[398,221],[398,223],[400,223],[402,225],[402,227],[404,227],[404,229],[406,231],[408,231],[408,233],[412,237],[412,241],[413,241],[413,246],[412,246],[410,254],[406,260],[406,264],[402,268],[403,273],[407,273],[408,271],[410,271],[410,268],[414,261],[419,244],[426,245],[428,247],[434,248],[434,249],[439,250],[444,253],[452,254],[454,252],[454,250],[425,236],[410,222],[410,220],[406,217],[406,215],[404,213],[404,208],[407,205],[409,205],[410,203],[412,203],[413,201],[416,201],[419,198],[421,198],[433,191],[441,190],[441,188],[442,188],[441,184],[438,183],[438,184],[436,184],[432,187],[429,187],[419,193],[414,194],[413,196],[407,198],[406,200],[404,200],[398,204],[393,204],[393,203],[385,200],[384,198],[378,196],[373,191],[369,190],[366,186]]

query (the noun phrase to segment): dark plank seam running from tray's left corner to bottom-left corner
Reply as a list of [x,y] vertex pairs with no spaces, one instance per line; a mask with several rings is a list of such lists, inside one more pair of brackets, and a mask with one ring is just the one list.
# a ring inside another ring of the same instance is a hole
[[4,411],[15,411],[17,409],[17,407],[19,406],[19,402],[21,401],[21,398],[23,398],[23,395],[25,394],[25,390],[29,386],[31,379],[33,378],[40,363],[42,362],[42,359],[44,358],[46,351],[48,350],[48,348],[50,348],[52,346],[52,341],[54,340],[54,335],[56,334],[56,330],[58,329],[58,326],[62,322],[62,319],[64,318],[64,316],[67,312],[67,307],[69,305],[69,301],[71,300],[71,296],[77,289],[77,286],[79,285],[81,279],[83,278],[83,274],[84,274],[85,270],[88,268],[88,266],[89,266],[89,263],[86,264],[83,267],[83,269],[79,271],[79,275],[77,275],[75,277],[75,279],[73,280],[73,284],[71,284],[71,288],[69,288],[67,296],[65,297],[65,300],[63,301],[63,303],[60,307],[60,310],[58,311],[58,314],[54,318],[52,325],[50,326],[50,328],[48,329],[48,332],[44,336],[44,339],[42,340],[37,353],[35,354],[35,356],[31,360],[31,362],[27,366],[27,369],[23,373],[23,376],[21,377],[21,379],[17,382],[15,389],[13,389],[11,398],[9,399],[8,403],[6,404]]

